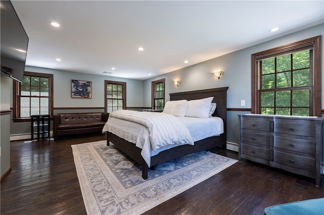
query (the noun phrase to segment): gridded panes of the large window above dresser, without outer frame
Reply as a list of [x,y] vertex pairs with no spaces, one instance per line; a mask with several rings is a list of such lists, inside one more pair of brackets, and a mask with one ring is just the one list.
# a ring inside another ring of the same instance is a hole
[[259,61],[261,114],[309,116],[312,50]]

